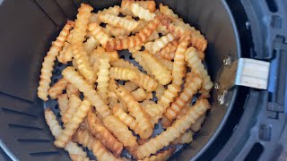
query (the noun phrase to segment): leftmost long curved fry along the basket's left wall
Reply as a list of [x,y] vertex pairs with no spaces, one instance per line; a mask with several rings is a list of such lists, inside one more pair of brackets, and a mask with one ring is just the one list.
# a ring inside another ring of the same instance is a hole
[[70,30],[72,29],[72,25],[69,21],[65,24],[64,29],[60,32],[56,41],[52,43],[52,47],[50,47],[47,55],[44,58],[44,62],[42,64],[41,75],[39,76],[39,87],[38,87],[38,97],[44,101],[48,100],[48,89],[50,88],[51,77],[53,72],[53,67],[55,64],[55,60],[59,52],[64,47],[65,40],[69,35]]

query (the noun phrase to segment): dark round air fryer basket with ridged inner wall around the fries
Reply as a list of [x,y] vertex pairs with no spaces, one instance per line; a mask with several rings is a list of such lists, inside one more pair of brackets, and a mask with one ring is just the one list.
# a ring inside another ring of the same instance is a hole
[[[74,20],[81,3],[91,4],[95,11],[120,4],[115,0],[29,0],[0,1],[0,146],[13,159],[68,160],[63,149],[55,148],[54,138],[48,131],[43,106],[49,106],[59,115],[57,101],[43,103],[37,98],[39,71],[43,57],[52,40],[67,19]],[[223,59],[233,60],[240,55],[240,45],[235,22],[225,1],[166,0],[167,4],[184,21],[201,30],[208,40],[206,64],[213,82],[216,82]],[[125,53],[125,52],[124,52]],[[126,54],[121,54],[126,55]],[[129,57],[126,56],[125,59]],[[52,82],[61,77],[57,63]],[[224,126],[237,99],[238,88],[230,90],[227,101],[220,106],[218,94],[213,91],[212,109],[204,126],[191,145],[178,152],[178,160],[199,157]]]

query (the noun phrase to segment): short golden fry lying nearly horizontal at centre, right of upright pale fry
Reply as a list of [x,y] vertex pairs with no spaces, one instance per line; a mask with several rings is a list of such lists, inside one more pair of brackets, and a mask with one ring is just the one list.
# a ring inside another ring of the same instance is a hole
[[136,72],[128,68],[111,67],[109,76],[115,80],[135,80],[137,79]]

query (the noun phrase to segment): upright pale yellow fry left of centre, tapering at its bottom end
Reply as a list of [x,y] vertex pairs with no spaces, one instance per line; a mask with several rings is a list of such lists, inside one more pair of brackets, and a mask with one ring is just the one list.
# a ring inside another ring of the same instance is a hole
[[97,92],[106,103],[108,103],[109,67],[109,58],[101,58],[97,79]]

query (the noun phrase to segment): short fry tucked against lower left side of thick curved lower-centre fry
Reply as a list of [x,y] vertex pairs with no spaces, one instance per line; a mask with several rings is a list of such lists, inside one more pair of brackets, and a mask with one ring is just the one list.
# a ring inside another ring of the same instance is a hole
[[130,116],[129,114],[126,114],[126,112],[119,106],[115,106],[113,108],[113,114],[117,116],[117,118],[126,124],[131,130],[135,131],[136,134],[138,134],[137,131],[137,125],[138,123],[135,122],[134,117]]

